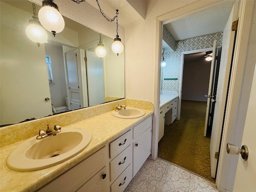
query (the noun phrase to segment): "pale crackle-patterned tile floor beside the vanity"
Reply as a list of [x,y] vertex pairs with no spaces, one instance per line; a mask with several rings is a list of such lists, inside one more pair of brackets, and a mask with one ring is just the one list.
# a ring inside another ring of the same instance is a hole
[[218,192],[215,184],[161,158],[147,159],[124,192]]

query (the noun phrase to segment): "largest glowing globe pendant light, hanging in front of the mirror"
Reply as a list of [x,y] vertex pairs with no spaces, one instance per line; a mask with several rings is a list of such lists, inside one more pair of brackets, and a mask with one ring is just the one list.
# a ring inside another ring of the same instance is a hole
[[38,17],[42,26],[52,32],[54,37],[56,33],[62,32],[64,29],[64,19],[53,0],[42,1],[42,8],[38,12]]

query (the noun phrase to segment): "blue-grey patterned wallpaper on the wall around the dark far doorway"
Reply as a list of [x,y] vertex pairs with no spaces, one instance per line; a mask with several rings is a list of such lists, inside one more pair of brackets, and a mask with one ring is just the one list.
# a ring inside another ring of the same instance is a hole
[[[179,92],[181,52],[212,47],[214,40],[217,41],[217,46],[221,46],[222,32],[177,41],[175,52],[165,52],[166,66],[161,72],[161,90]],[[178,78],[178,80],[164,80],[164,78]]]

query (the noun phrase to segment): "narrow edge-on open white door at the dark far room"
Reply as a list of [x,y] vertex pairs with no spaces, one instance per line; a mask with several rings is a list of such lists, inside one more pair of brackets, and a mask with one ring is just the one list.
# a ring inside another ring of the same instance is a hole
[[214,72],[215,72],[215,62],[216,62],[216,54],[217,54],[217,45],[216,40],[213,42],[212,48],[212,63],[211,63],[211,70],[210,70],[210,80],[209,80],[209,87],[208,87],[208,95],[207,95],[207,107],[206,107],[206,116],[205,116],[205,124],[204,124],[204,136],[206,137],[206,132],[208,128],[208,120],[209,120],[209,113],[210,113],[210,105],[212,97],[212,88],[214,83]]

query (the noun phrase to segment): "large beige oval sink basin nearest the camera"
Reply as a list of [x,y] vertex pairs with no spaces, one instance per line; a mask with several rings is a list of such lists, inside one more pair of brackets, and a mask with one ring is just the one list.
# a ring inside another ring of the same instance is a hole
[[36,139],[36,136],[19,144],[8,156],[6,165],[14,171],[34,171],[64,162],[86,148],[92,139],[82,128],[62,129],[56,136]]

